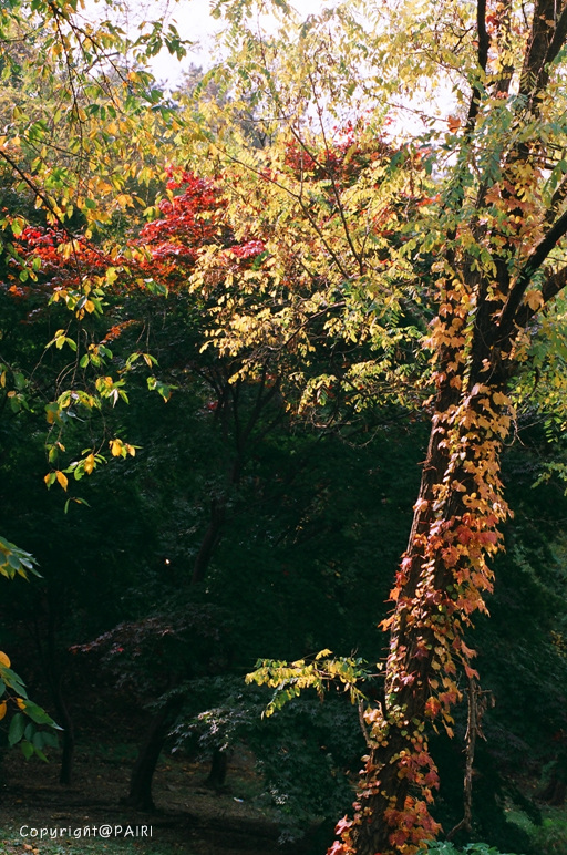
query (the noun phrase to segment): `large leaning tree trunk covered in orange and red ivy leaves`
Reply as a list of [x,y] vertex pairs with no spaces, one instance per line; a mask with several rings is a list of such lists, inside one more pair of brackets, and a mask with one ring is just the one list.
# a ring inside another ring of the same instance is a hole
[[[515,370],[514,348],[518,332],[567,284],[567,267],[556,262],[544,269],[567,234],[567,179],[551,196],[543,192],[548,154],[537,132],[550,106],[550,70],[567,38],[565,0],[534,3],[516,72],[520,100],[507,103],[516,136],[509,144],[495,138],[489,168],[474,153],[476,146],[486,154],[483,111],[486,116],[511,89],[512,17],[504,0],[488,25],[486,0],[477,0],[480,82],[473,83],[456,155],[461,173],[457,168],[447,195],[447,230],[435,264],[439,306],[431,344],[437,391],[430,444],[391,594],[393,611],[384,621],[390,629],[384,697],[365,712],[369,754],[354,816],[339,823],[341,841],[330,855],[414,855],[439,830],[427,807],[437,785],[427,727],[436,718],[451,733],[451,707],[461,699],[457,669],[476,676],[463,631],[475,610],[485,610],[483,596],[493,579],[486,558],[499,548],[496,526],[507,515],[498,457],[511,424],[506,387]],[[495,58],[499,73],[491,76]],[[475,196],[466,189],[473,167]],[[528,291],[537,271],[537,287]]]

